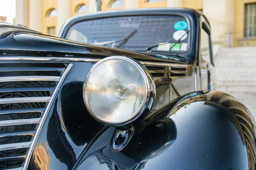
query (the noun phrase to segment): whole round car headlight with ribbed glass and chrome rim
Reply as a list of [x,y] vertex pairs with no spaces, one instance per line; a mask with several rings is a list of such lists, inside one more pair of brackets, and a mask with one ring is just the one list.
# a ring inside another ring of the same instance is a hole
[[84,102],[98,121],[122,126],[151,109],[155,89],[151,74],[139,62],[128,57],[107,57],[87,74]]

